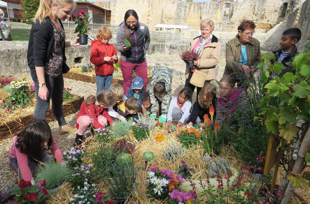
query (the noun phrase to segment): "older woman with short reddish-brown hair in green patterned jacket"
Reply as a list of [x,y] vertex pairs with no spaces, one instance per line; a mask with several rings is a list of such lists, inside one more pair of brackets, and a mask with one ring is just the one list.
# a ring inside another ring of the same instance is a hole
[[236,79],[237,87],[246,88],[245,81],[253,77],[260,63],[260,44],[253,38],[255,24],[244,20],[238,26],[238,34],[226,43],[226,66],[224,75]]

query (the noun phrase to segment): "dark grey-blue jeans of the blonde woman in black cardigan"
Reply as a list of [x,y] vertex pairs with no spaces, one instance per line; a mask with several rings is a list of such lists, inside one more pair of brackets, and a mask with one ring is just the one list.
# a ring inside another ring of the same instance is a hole
[[48,89],[47,101],[42,100],[39,96],[39,80],[34,82],[34,88],[36,90],[37,103],[33,114],[33,120],[46,120],[46,112],[50,107],[50,100],[52,99],[52,111],[58,121],[58,125],[66,125],[64,120],[64,110],[62,108],[62,102],[64,101],[64,77],[62,73],[56,78],[51,78],[49,75],[44,75],[45,83]]

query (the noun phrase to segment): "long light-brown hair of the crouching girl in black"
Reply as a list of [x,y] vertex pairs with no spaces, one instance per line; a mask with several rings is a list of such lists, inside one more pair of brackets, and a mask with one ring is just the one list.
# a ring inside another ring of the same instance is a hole
[[[206,95],[207,100],[204,101],[203,98]],[[198,103],[202,108],[208,108],[212,104],[213,98],[216,97],[216,87],[212,84],[205,84],[200,93],[198,94]]]

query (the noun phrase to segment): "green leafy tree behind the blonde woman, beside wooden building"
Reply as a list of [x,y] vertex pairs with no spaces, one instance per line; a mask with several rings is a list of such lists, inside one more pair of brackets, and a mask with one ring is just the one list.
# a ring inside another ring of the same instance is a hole
[[27,24],[33,24],[33,18],[38,11],[40,0],[22,0],[21,9],[23,20]]

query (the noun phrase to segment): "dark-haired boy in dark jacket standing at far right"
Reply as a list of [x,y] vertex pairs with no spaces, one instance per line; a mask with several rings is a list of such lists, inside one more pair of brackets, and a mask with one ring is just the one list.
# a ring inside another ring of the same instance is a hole
[[278,76],[281,77],[287,72],[294,73],[293,67],[290,66],[290,62],[293,61],[293,57],[299,54],[297,52],[296,43],[301,38],[301,31],[298,28],[289,28],[282,33],[280,40],[281,49],[273,51],[275,60],[272,60],[271,63],[274,64],[276,61],[282,63],[285,66],[285,69],[281,73],[278,73]]

